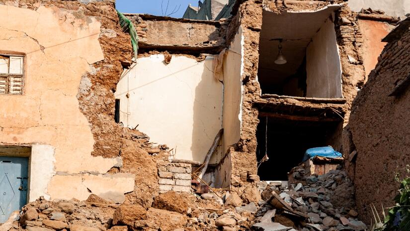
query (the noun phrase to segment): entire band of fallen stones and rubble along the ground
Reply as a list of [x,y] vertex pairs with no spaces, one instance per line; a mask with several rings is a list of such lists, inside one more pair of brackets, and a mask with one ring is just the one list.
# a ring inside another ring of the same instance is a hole
[[[111,205],[95,195],[86,201],[40,198],[22,209],[10,231],[364,231],[357,219],[354,188],[346,173],[331,170],[306,176],[292,172],[293,182],[251,182],[241,192],[197,195],[166,192],[150,208]],[[276,197],[275,197],[276,196]],[[275,201],[275,198],[277,200]],[[279,205],[279,206],[278,206]]]

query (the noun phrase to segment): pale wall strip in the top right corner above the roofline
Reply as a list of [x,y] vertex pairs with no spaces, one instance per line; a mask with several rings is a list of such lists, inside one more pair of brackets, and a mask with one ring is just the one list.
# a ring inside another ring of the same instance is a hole
[[353,11],[362,8],[381,9],[390,16],[403,17],[410,13],[410,0],[349,0],[347,2]]

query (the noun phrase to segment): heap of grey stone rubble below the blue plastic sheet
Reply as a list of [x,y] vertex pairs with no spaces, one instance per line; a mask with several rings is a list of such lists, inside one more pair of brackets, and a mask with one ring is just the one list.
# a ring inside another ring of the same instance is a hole
[[[293,172],[288,187],[268,185],[262,199],[269,202],[255,214],[254,230],[265,231],[362,231],[357,219],[354,186],[342,170],[321,176],[305,176],[305,169]],[[272,228],[274,227],[274,228]]]

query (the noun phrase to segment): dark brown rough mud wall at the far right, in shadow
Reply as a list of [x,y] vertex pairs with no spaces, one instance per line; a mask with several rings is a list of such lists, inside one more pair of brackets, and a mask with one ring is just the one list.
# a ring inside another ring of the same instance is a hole
[[[410,32],[389,43],[353,102],[349,127],[357,149],[354,183],[359,214],[370,222],[369,205],[394,205],[394,172],[410,163],[410,91],[388,95],[410,73]],[[380,214],[380,213],[379,213]]]

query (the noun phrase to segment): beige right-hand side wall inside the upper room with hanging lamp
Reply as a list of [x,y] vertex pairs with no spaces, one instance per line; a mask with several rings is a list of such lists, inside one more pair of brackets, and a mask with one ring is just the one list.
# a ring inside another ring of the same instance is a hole
[[306,51],[307,97],[341,98],[341,64],[334,24],[327,19]]

